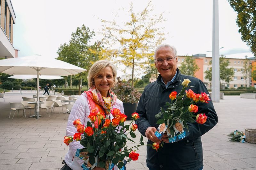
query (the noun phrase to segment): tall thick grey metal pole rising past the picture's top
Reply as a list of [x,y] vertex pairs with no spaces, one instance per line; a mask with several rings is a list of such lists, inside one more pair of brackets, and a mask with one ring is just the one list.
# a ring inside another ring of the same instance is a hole
[[220,102],[219,8],[213,0],[212,13],[212,101]]

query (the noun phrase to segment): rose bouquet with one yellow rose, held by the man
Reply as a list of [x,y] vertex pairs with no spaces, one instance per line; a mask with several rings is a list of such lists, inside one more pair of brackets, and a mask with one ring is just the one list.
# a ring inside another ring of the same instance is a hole
[[[192,87],[188,85],[189,83],[189,79],[184,79],[180,93],[177,95],[177,92],[173,91],[169,95],[171,102],[166,102],[166,110],[161,107],[161,112],[156,115],[157,119],[163,116],[163,118],[157,121],[157,124],[165,125],[169,142],[177,142],[189,135],[187,122],[193,123],[195,120],[199,124],[206,122],[207,116],[205,114],[200,113],[196,115],[198,107],[195,104],[198,102],[208,103],[210,99],[205,92],[196,94],[191,89],[185,90],[186,87]],[[179,128],[179,125],[182,128]],[[160,137],[160,133],[157,131],[156,136]]]

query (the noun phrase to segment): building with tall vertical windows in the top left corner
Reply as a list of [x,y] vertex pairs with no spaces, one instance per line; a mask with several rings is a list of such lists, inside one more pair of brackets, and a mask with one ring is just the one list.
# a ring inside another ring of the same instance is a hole
[[0,58],[18,57],[18,50],[12,45],[16,16],[11,0],[0,0],[0,10]]

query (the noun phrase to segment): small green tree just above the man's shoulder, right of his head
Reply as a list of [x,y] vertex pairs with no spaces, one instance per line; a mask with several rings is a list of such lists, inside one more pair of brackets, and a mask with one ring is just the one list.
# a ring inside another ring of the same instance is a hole
[[195,59],[193,59],[191,56],[186,56],[184,62],[181,63],[179,69],[182,74],[194,77],[196,71],[199,70],[199,67],[196,64]]

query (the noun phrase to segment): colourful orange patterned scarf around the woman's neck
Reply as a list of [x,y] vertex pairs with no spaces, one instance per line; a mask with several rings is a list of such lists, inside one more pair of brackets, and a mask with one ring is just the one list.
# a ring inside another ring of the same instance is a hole
[[108,97],[101,96],[100,91],[95,86],[91,87],[87,93],[95,103],[106,110],[107,114],[110,114],[110,109],[112,109],[112,105],[116,102],[116,94],[111,89],[108,91]]

